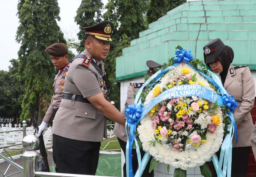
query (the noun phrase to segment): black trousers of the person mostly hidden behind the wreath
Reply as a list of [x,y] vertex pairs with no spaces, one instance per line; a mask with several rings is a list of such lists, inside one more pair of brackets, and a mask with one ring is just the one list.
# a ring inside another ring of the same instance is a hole
[[[126,156],[125,155],[125,152],[126,152],[126,142],[121,140],[120,138],[117,137],[117,140],[122,148],[122,150],[124,151],[124,157]],[[143,158],[145,152],[140,149],[140,155],[141,155],[141,159]],[[148,172],[149,171],[149,166],[150,166],[150,161],[151,161],[152,157],[150,157],[149,161],[148,161],[148,164],[142,174],[143,177],[153,177],[154,176],[154,170],[152,170],[152,172]],[[138,159],[137,159],[137,152],[136,152],[136,149],[132,149],[132,171],[133,171],[133,174],[136,173],[137,171],[137,168],[138,168]],[[124,163],[124,166],[123,166],[123,171],[124,171],[124,177],[126,177],[126,163]]]

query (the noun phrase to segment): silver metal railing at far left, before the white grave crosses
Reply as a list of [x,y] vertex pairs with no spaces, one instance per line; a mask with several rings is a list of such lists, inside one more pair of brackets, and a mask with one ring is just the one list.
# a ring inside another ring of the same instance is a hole
[[[26,136],[26,121],[22,121],[23,125],[22,125],[22,129],[18,129],[18,130],[7,130],[7,131],[0,131],[0,133],[8,133],[8,132],[14,132],[14,131],[23,131],[23,138]],[[3,176],[3,177],[8,177],[8,176],[12,176],[14,174],[17,174],[17,173],[20,173],[20,172],[23,172],[23,167],[20,166],[19,164],[15,163],[14,162],[14,159],[12,159],[12,156],[5,150],[5,148],[7,147],[12,147],[12,146],[17,146],[17,145],[21,145],[22,143],[18,143],[18,144],[13,144],[13,145],[6,145],[6,146],[3,146],[1,147],[1,151],[0,151],[0,157],[2,159],[4,159],[5,162],[9,163],[9,166],[6,168],[5,172],[2,173],[0,172],[0,174]],[[8,157],[4,156],[3,152],[5,152]],[[24,148],[23,148],[23,153],[24,153]],[[6,175],[8,170],[10,169],[10,166],[14,166],[16,168],[18,168],[20,171],[19,172],[15,172],[15,173],[12,173],[12,174],[9,174],[9,175]]]

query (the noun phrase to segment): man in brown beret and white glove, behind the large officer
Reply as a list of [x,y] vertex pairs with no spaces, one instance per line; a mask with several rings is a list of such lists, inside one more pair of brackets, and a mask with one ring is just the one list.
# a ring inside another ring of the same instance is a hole
[[60,101],[63,96],[65,78],[68,72],[70,63],[68,62],[68,48],[63,43],[54,43],[47,47],[45,51],[51,55],[53,66],[59,70],[54,78],[53,95],[51,104],[48,107],[48,110],[44,116],[44,119],[41,125],[38,126],[38,135],[41,135],[41,132],[46,129],[48,123],[51,123],[52,118],[56,114],[57,110],[60,107]]

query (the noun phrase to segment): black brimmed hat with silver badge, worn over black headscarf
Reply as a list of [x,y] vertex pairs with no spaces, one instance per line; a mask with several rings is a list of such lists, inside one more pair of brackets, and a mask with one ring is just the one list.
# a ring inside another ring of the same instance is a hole
[[225,48],[225,44],[220,40],[220,38],[214,39],[213,41],[206,44],[204,49],[204,63],[212,63],[218,59],[218,56]]

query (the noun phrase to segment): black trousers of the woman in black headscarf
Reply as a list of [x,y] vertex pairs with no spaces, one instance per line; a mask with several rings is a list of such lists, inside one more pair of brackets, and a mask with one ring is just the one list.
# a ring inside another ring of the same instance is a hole
[[[249,162],[250,147],[232,148],[232,164],[231,177],[244,177]],[[220,150],[216,152],[218,159],[220,158]],[[212,164],[213,165],[213,164]],[[216,171],[213,168],[212,177],[217,177]]]

